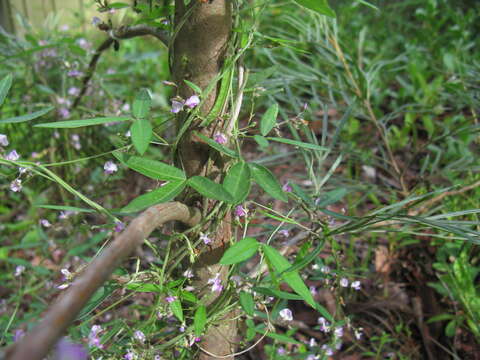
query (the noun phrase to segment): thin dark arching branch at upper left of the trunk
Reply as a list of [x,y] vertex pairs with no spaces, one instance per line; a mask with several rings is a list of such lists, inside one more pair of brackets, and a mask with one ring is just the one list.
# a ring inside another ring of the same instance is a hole
[[160,40],[165,46],[168,46],[169,38],[168,34],[165,30],[161,30],[159,28],[155,28],[153,26],[148,25],[133,25],[133,26],[122,26],[118,29],[109,30],[108,34],[110,35],[107,39],[105,39],[100,46],[95,50],[95,53],[88,64],[88,70],[85,76],[82,79],[82,89],[80,93],[75,98],[72,107],[70,110],[75,109],[78,104],[80,104],[80,100],[83,98],[85,93],[87,92],[88,83],[95,72],[95,68],[97,67],[98,60],[102,53],[107,50],[116,40],[123,40],[123,39],[131,39],[137,36],[145,36],[151,35],[156,37]]

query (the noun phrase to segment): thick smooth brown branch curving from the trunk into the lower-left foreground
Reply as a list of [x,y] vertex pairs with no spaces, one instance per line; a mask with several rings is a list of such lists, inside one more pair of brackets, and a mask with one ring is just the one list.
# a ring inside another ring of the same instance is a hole
[[51,306],[43,320],[18,343],[6,350],[8,360],[41,360],[67,330],[93,293],[110,277],[125,259],[158,226],[172,220],[188,226],[200,222],[200,211],[180,202],[152,206],[118,235],[79,275]]

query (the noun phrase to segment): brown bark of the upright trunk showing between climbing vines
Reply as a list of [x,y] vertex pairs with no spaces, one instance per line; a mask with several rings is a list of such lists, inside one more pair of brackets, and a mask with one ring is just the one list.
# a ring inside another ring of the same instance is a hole
[[[195,0],[185,7],[181,0],[177,0],[175,11],[175,26],[180,29],[173,43],[171,71],[178,86],[178,95],[186,99],[193,94],[193,91],[183,80],[191,81],[205,90],[222,69],[232,30],[231,2],[213,0],[204,3]],[[205,116],[209,113],[216,96],[217,88],[214,88],[206,98],[202,99],[201,115]],[[199,126],[199,122],[194,119],[189,130],[180,140],[177,160],[188,176],[203,175],[220,181],[224,162],[217,156],[218,154],[212,158],[210,148],[193,132],[198,131],[212,138],[216,131],[221,131],[223,121],[219,118],[203,128]],[[188,199],[185,201],[188,203]],[[194,200],[190,199],[190,201]],[[204,205],[208,209],[203,210],[208,211],[213,203],[204,202]],[[204,296],[209,291],[208,279],[214,277],[216,273],[220,273],[223,281],[226,279],[228,268],[218,265],[218,261],[231,236],[230,214],[227,213],[215,232],[211,234],[212,244],[194,264],[194,286],[197,289],[203,289],[199,295],[206,305],[213,303],[216,298],[211,292],[208,296]],[[233,313],[227,314],[218,324],[210,326],[200,346],[217,356],[232,354],[235,350],[234,342],[237,334],[234,317]],[[228,358],[233,359],[233,356]],[[215,356],[202,352],[199,359],[215,359]]]

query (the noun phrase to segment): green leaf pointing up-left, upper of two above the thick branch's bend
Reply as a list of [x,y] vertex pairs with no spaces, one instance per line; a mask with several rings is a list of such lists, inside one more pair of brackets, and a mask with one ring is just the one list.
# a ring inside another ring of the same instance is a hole
[[182,170],[160,161],[139,156],[122,156],[117,152],[114,152],[113,154],[125,166],[139,172],[140,174],[148,176],[149,178],[164,181],[183,181],[187,179]]

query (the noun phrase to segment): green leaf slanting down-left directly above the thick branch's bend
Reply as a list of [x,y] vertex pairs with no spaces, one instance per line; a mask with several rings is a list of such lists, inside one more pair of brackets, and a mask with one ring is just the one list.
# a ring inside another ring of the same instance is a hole
[[185,185],[186,181],[171,181],[158,189],[136,197],[123,207],[121,212],[137,212],[150,206],[170,201],[182,192]]

